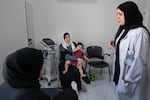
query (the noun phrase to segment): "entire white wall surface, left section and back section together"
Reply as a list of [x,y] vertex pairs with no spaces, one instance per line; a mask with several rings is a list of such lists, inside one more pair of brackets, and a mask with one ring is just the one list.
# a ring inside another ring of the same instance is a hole
[[[0,83],[2,82],[2,62],[18,48],[27,46],[25,0],[0,0]],[[71,33],[72,40],[81,41],[86,46],[100,45],[107,51],[107,43],[117,31],[116,7],[127,0],[27,0],[29,16],[33,24],[35,47],[40,48],[43,37],[52,38],[57,44],[63,40],[63,32]],[[142,14],[149,0],[135,1]],[[146,2],[147,1],[147,2]],[[149,8],[149,7],[148,7]],[[150,21],[149,21],[150,22]],[[147,24],[150,25],[150,24]],[[29,25],[30,26],[30,25]],[[31,28],[31,27],[30,27]],[[30,29],[29,29],[30,30]]]

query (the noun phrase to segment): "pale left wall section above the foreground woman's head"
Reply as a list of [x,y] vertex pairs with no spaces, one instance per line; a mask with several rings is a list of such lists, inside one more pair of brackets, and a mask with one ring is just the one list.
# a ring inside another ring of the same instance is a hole
[[0,84],[5,57],[27,46],[24,0],[0,0]]

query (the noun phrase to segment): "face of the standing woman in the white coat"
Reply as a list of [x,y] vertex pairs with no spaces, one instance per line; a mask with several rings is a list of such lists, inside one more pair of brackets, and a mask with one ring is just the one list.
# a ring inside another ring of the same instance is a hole
[[117,9],[117,21],[118,21],[119,25],[121,25],[121,26],[125,25],[124,12],[121,11],[120,9]]

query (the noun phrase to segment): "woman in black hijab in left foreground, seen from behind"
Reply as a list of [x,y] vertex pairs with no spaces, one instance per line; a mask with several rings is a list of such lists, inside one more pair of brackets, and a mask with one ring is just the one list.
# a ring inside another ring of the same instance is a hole
[[3,65],[1,100],[50,100],[40,89],[38,78],[44,74],[41,50],[22,48],[8,55]]

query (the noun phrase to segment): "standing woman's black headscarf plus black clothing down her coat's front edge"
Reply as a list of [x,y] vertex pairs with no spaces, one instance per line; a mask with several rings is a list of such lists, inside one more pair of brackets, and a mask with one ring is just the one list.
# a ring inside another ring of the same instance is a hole
[[[125,25],[120,26],[116,35],[115,35],[115,42],[120,33],[125,30],[122,36],[119,38],[116,46],[116,61],[115,61],[115,73],[114,73],[114,79],[113,81],[115,84],[118,84],[119,80],[119,75],[120,75],[120,63],[119,63],[119,45],[120,41],[127,35],[128,31],[130,29],[134,29],[137,27],[144,27],[142,22],[143,22],[143,17],[141,12],[138,9],[138,6],[132,2],[132,1],[127,1],[125,3],[120,4],[117,9],[120,9],[121,11],[124,12],[124,17],[125,17]],[[145,27],[144,27],[145,28]],[[147,29],[146,29],[147,30]]]

